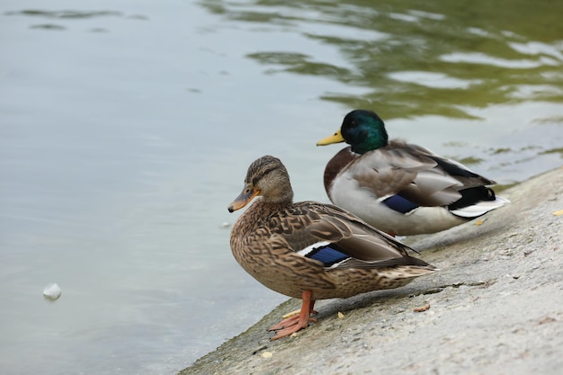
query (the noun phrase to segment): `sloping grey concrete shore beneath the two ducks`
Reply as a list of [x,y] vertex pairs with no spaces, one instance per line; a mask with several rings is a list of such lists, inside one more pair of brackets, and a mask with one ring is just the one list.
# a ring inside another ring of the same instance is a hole
[[560,374],[563,167],[499,195],[512,202],[405,240],[441,271],[318,301],[316,324],[271,342],[290,299],[179,374]]

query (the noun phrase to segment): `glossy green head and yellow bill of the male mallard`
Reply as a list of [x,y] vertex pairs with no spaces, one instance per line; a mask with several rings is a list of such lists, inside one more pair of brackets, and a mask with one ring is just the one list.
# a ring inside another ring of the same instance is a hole
[[342,126],[330,137],[317,142],[317,146],[346,142],[357,154],[385,147],[388,142],[385,123],[376,112],[355,110],[348,113]]

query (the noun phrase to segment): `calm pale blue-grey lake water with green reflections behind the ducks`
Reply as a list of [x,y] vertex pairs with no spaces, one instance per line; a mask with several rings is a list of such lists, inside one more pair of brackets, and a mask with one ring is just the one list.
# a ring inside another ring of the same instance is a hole
[[264,154],[327,201],[341,147],[315,143],[354,108],[500,184],[563,164],[562,2],[0,11],[4,374],[171,374],[246,330],[286,298],[234,261],[227,205]]

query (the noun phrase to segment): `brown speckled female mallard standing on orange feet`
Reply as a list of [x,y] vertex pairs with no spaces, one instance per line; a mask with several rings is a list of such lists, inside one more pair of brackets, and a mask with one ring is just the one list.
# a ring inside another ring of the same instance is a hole
[[308,326],[317,299],[347,298],[398,288],[436,270],[409,256],[409,248],[351,213],[315,201],[293,202],[280,159],[263,156],[248,167],[245,187],[229,212],[261,196],[237,219],[230,246],[257,281],[303,299],[300,314],[272,326],[272,339]]

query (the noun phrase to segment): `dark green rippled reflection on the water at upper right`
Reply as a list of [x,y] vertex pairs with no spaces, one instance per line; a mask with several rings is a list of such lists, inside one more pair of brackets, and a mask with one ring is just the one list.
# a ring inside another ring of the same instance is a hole
[[[365,88],[325,93],[384,118],[438,114],[471,118],[467,107],[563,102],[563,2],[553,1],[203,1],[212,13],[261,32],[293,32],[338,50],[247,54],[271,74],[326,76]],[[266,35],[267,37],[267,35]]]

